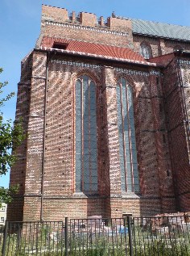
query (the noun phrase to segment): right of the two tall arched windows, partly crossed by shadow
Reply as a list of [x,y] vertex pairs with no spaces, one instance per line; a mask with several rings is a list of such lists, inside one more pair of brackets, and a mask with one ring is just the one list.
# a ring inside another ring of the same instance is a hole
[[134,129],[133,90],[125,78],[117,85],[118,138],[122,191],[138,192],[138,163]]

